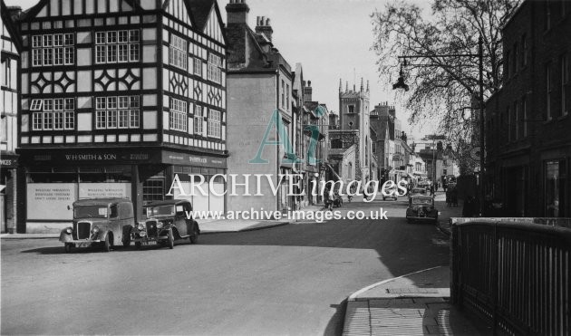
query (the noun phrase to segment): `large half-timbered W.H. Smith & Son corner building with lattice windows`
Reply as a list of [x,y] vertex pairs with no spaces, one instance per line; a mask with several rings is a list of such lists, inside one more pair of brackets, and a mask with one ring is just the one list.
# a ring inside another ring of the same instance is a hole
[[[129,197],[140,218],[144,203],[169,197],[176,174],[189,187],[189,174],[226,173],[215,0],[43,0],[20,30],[20,232],[63,227],[84,197]],[[224,210],[224,197],[204,189],[170,197]]]

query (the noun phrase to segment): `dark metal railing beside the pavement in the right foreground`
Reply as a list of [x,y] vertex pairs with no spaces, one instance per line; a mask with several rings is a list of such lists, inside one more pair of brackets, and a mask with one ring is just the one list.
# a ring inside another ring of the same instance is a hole
[[571,230],[540,222],[452,223],[451,300],[495,334],[571,334]]

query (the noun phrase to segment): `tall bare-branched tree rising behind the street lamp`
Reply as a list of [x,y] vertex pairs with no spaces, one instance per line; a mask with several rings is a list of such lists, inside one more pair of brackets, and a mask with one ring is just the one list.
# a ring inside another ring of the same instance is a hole
[[[521,0],[432,0],[431,14],[399,0],[372,14],[379,72],[383,81],[395,81],[402,67],[408,93],[398,93],[411,110],[410,122],[438,120],[439,131],[455,139],[456,150],[478,136],[479,118],[470,115],[479,93],[479,60],[476,57],[437,55],[478,52],[484,42],[484,97],[501,83],[501,28]],[[425,56],[405,65],[397,56]],[[460,139],[462,139],[460,143]],[[462,153],[457,153],[463,157]]]

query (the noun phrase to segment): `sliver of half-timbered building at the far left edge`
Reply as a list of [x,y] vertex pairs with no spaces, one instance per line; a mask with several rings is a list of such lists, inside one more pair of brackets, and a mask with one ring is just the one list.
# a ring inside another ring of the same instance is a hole
[[12,15],[19,7],[6,7],[2,3],[2,70],[0,76],[0,224],[2,232],[15,232],[17,223],[17,167],[19,81],[18,66],[22,48]]

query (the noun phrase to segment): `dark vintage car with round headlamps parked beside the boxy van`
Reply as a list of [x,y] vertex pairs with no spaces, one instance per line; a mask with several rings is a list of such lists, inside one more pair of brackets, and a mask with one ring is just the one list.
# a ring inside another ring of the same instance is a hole
[[175,239],[189,238],[196,244],[200,228],[192,217],[192,204],[186,199],[170,199],[156,201],[143,206],[143,214],[147,216],[144,223],[139,223],[131,231],[135,246],[159,244],[174,247]]

